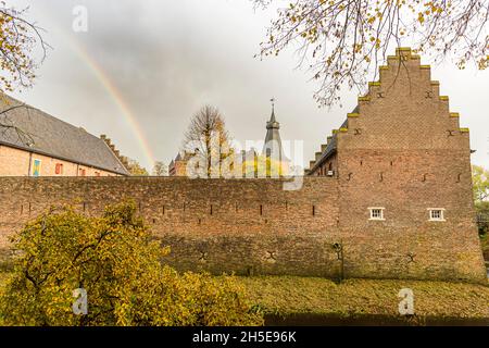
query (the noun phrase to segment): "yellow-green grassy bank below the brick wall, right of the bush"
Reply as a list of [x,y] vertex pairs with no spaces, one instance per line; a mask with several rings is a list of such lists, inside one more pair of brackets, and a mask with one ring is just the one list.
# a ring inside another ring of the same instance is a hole
[[240,277],[265,314],[399,316],[399,290],[414,291],[416,316],[489,319],[489,286],[424,281],[347,279],[293,276]]

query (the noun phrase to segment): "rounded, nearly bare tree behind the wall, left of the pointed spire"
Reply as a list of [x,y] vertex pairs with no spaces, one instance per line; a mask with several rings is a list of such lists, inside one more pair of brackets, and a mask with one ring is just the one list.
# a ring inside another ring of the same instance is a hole
[[204,176],[221,176],[223,162],[234,153],[229,141],[230,137],[220,110],[205,105],[190,121],[183,152],[191,153],[195,162],[202,163]]

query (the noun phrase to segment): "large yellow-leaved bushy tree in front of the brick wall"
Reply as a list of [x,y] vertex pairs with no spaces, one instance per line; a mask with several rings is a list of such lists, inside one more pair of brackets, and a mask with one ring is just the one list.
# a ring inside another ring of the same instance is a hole
[[[263,324],[234,277],[162,265],[167,250],[134,202],[108,207],[101,217],[51,210],[13,241],[14,273],[0,297],[4,325]],[[85,315],[73,310],[84,308],[74,306],[76,289],[86,291]]]

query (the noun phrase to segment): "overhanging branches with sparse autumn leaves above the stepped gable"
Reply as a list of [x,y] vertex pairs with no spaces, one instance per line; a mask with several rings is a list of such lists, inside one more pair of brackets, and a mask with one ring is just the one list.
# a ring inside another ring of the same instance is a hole
[[435,62],[453,58],[460,69],[487,69],[488,22],[489,0],[293,0],[278,10],[260,55],[298,45],[299,66],[318,82],[315,100],[329,107],[344,85],[363,94],[393,46],[409,44]]

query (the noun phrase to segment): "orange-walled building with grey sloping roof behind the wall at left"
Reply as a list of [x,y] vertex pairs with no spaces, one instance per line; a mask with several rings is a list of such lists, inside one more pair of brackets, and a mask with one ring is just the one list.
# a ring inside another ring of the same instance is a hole
[[127,160],[98,138],[5,95],[0,97],[0,176],[128,175]]

